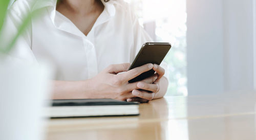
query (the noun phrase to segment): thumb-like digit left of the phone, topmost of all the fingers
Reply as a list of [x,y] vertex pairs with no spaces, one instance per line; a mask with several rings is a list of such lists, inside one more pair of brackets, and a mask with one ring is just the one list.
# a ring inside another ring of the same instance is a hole
[[131,66],[130,63],[122,63],[122,64],[113,64],[109,65],[104,69],[106,73],[111,73],[111,74],[118,74],[121,72],[126,72],[128,71],[129,67]]

